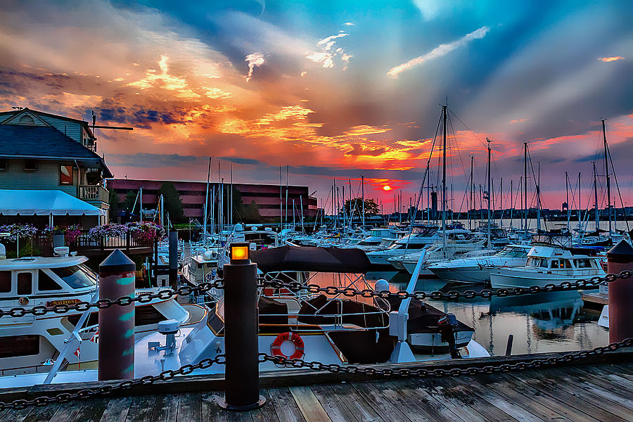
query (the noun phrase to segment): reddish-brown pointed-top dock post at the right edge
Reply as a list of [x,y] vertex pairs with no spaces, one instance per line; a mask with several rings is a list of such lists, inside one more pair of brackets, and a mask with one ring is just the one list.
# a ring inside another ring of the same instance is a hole
[[[633,271],[633,248],[622,240],[607,252],[608,273]],[[609,342],[633,338],[633,279],[615,280],[609,289]]]

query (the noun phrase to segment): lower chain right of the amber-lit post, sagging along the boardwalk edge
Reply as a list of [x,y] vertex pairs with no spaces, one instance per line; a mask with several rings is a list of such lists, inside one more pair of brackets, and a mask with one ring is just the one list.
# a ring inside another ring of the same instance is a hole
[[408,367],[392,367],[392,368],[373,368],[371,366],[354,366],[339,364],[323,364],[321,362],[306,362],[302,359],[288,359],[283,356],[271,356],[270,354],[260,353],[259,362],[273,362],[276,365],[284,364],[293,368],[309,368],[313,371],[330,371],[333,373],[362,373],[364,375],[376,376],[418,376],[418,377],[440,377],[440,376],[468,376],[480,373],[492,374],[509,371],[523,371],[525,369],[537,369],[544,366],[555,366],[568,362],[586,359],[587,357],[597,356],[605,352],[614,352],[621,347],[630,347],[633,345],[633,338],[626,338],[618,343],[596,347],[592,350],[580,350],[563,354],[559,357],[549,357],[547,359],[533,359],[529,362],[516,362],[515,364],[497,364],[487,366],[471,366],[468,368],[452,368],[452,369],[426,369],[426,368],[408,368]]

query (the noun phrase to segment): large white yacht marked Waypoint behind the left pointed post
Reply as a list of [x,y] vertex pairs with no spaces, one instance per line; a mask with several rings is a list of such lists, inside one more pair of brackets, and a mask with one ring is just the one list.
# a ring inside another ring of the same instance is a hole
[[[98,276],[87,267],[87,260],[66,253],[57,257],[0,259],[0,308],[96,302]],[[136,290],[137,294],[142,292],[157,293],[158,289]],[[188,326],[203,319],[205,314],[202,307],[182,306],[174,298],[136,302],[135,306],[136,340],[155,332],[160,321],[174,319],[181,326]],[[78,324],[80,320],[83,324]],[[75,350],[60,358],[66,343],[73,338],[78,340]],[[57,359],[65,359],[65,370],[96,368],[97,339],[96,309],[3,316],[0,318],[0,376],[46,373]]]

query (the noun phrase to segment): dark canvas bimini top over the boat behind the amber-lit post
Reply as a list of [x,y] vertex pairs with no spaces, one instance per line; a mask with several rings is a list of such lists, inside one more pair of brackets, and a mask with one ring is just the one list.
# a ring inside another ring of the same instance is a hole
[[250,260],[262,272],[318,271],[339,273],[366,273],[371,266],[367,255],[360,249],[321,248],[319,246],[281,246],[252,250]]

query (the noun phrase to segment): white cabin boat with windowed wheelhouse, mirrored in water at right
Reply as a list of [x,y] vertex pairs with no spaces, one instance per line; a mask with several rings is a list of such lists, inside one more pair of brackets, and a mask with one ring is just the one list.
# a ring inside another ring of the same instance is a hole
[[491,268],[490,284],[492,288],[544,287],[546,284],[605,276],[601,266],[604,257],[587,255],[591,252],[586,248],[535,245],[528,252],[524,266]]

